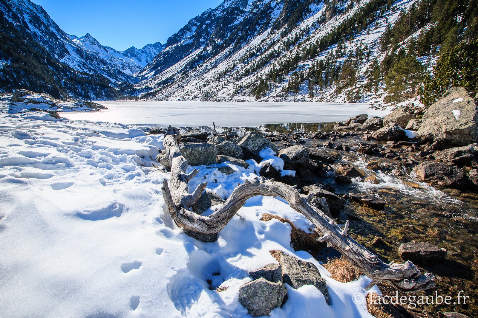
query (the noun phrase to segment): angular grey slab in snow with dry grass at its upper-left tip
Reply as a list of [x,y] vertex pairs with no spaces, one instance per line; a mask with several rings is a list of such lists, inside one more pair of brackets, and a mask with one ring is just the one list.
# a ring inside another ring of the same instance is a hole
[[281,252],[278,257],[279,264],[282,266],[282,281],[289,284],[294,289],[304,285],[314,285],[326,298],[329,303],[329,294],[327,283],[320,276],[319,270],[311,262],[306,262],[297,257]]

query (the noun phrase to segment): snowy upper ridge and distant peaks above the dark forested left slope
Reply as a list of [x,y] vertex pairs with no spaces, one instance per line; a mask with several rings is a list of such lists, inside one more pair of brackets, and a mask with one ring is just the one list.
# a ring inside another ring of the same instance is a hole
[[[103,46],[90,34],[82,37],[66,34],[40,5],[29,0],[1,0],[6,20],[27,32],[53,57],[78,72],[100,74],[111,82],[134,82],[140,71],[162,49],[161,43],[132,47],[124,52]],[[154,56],[153,56],[154,55]]]

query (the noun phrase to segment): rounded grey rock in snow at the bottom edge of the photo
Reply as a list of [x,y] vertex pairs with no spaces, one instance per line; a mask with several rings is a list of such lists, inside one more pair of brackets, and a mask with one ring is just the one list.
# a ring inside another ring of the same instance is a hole
[[251,316],[269,315],[272,309],[282,305],[286,294],[287,287],[284,284],[261,277],[239,288],[239,302]]

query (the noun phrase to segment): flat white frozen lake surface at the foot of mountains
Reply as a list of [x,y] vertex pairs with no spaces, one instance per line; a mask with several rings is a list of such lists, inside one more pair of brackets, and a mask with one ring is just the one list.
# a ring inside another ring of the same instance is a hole
[[254,102],[99,102],[102,112],[62,113],[73,120],[115,122],[127,125],[256,127],[271,123],[329,123],[361,113],[385,116],[386,110],[352,103],[254,103]]

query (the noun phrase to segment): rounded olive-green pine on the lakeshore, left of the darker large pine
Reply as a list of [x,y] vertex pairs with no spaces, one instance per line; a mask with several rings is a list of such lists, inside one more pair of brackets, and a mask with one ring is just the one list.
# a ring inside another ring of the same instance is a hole
[[385,76],[388,102],[394,102],[415,97],[418,85],[424,79],[424,67],[413,56],[405,56],[395,64]]

